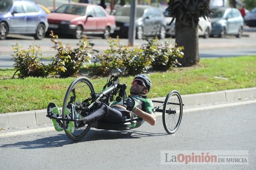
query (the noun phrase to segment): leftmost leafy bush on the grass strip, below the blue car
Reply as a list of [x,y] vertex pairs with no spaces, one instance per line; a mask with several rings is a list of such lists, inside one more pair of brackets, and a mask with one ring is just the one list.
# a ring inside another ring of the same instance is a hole
[[[50,66],[48,64],[44,64],[41,47],[37,46],[33,43],[30,45],[28,50],[20,49],[18,43],[12,46],[14,49],[14,53],[12,54],[12,58],[14,59],[14,69],[18,72],[19,78],[25,77],[47,77],[49,75]],[[39,57],[41,59],[39,59]]]

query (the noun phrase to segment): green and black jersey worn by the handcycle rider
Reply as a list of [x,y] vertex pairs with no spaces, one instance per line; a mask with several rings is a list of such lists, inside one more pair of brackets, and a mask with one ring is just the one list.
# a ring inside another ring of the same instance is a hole
[[[144,112],[147,112],[149,114],[154,113],[154,105],[153,102],[149,99],[149,98],[142,98],[141,96],[135,96],[132,97],[135,100],[135,106],[138,109],[141,109]],[[123,105],[123,100],[121,100],[120,102],[114,101],[111,105],[122,105],[125,108],[127,107],[126,105]]]

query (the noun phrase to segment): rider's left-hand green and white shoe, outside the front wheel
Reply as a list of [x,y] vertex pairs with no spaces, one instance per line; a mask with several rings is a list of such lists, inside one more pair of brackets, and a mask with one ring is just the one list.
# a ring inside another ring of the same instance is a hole
[[[50,115],[52,117],[59,117],[59,109],[56,106],[56,104],[54,103],[49,103],[48,107],[47,107],[47,115]],[[63,123],[60,120],[56,120],[56,119],[51,119],[52,123],[54,125],[54,128],[56,131],[63,131]]]

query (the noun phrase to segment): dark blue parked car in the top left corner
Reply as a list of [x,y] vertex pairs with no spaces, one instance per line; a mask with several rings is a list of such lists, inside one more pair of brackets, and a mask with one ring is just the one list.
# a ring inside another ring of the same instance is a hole
[[0,0],[0,39],[7,34],[32,35],[42,39],[48,28],[47,15],[35,2]]

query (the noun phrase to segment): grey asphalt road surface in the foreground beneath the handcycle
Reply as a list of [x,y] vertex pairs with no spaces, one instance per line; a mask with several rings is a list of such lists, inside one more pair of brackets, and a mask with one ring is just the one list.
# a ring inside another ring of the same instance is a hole
[[[1,169],[255,169],[255,101],[214,107],[185,109],[174,135],[166,134],[161,116],[154,127],[144,123],[129,131],[91,128],[81,142],[53,127],[49,130],[48,124],[0,131]],[[248,165],[162,165],[162,150],[245,150],[249,159]]]

